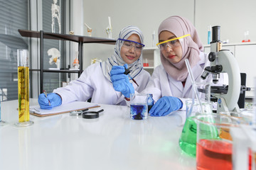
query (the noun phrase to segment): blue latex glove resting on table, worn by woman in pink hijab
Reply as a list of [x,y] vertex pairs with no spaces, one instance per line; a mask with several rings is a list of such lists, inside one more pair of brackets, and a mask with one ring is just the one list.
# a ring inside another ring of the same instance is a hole
[[164,96],[156,101],[154,106],[149,111],[149,114],[152,116],[164,116],[173,111],[177,111],[178,109],[182,108],[182,106],[183,103],[179,98]]

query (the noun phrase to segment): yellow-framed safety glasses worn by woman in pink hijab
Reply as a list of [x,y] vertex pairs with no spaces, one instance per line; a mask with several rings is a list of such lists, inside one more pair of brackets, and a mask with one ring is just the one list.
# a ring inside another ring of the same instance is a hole
[[186,38],[187,36],[191,36],[191,35],[187,34],[187,35],[183,35],[183,36],[178,37],[178,38],[173,38],[171,40],[166,40],[166,41],[163,41],[163,42],[159,42],[159,43],[156,44],[156,46],[159,47],[159,49],[161,51],[166,50],[167,47],[170,47],[170,48],[178,47],[178,46],[181,45],[180,41],[182,41],[183,38]]

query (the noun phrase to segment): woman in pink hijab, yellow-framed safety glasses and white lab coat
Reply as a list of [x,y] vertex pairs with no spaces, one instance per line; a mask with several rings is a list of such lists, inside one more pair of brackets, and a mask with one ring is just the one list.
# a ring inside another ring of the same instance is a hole
[[188,78],[185,60],[188,59],[196,82],[211,82],[212,77],[201,79],[208,55],[193,24],[181,16],[166,18],[159,26],[161,65],[154,69],[151,80],[142,93],[153,94],[156,103],[149,111],[152,116],[168,115],[186,108],[187,98],[193,97],[192,81]]

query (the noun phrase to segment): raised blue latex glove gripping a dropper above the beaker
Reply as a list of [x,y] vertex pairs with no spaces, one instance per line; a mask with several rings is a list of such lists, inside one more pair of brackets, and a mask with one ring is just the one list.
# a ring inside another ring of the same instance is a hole
[[129,78],[124,74],[127,64],[124,66],[113,66],[110,71],[110,79],[115,91],[120,91],[126,98],[130,98],[130,94],[134,94],[134,87],[129,82]]

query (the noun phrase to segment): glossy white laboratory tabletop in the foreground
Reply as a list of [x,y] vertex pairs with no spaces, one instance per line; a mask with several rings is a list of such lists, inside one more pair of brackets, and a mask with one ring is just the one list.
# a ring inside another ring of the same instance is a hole
[[[31,106],[37,99],[30,99]],[[16,128],[18,101],[1,103],[0,169],[196,169],[196,158],[181,152],[185,114],[131,120],[129,107],[100,105],[100,118],[69,113],[39,118]]]

